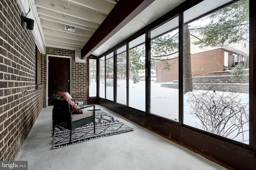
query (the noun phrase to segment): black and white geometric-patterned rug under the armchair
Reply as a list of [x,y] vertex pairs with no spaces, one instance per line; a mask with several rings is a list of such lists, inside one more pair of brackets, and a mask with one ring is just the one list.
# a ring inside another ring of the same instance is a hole
[[132,128],[98,109],[95,110],[95,133],[93,133],[93,123],[76,128],[72,130],[72,140],[71,144],[69,144],[70,131],[56,126],[54,129],[53,149],[127,131],[132,131]]

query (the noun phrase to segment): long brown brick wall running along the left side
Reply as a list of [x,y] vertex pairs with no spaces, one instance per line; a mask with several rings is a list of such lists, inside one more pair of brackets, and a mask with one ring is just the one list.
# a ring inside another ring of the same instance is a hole
[[[35,43],[16,0],[0,1],[0,160],[14,160],[43,106]],[[22,94],[27,90],[26,94]]]

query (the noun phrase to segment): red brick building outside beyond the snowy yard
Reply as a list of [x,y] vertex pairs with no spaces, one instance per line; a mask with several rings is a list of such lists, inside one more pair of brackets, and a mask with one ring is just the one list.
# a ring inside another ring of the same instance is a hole
[[[196,76],[208,76],[209,72],[224,71],[224,51],[229,53],[228,64],[233,65],[233,55],[238,55],[232,51],[226,49],[213,49],[209,51],[199,52],[191,54],[191,72],[192,77]],[[230,55],[231,54],[231,55]],[[242,56],[238,57],[238,61],[242,61]],[[156,64],[156,82],[173,82],[178,80],[178,58],[167,60],[170,64],[170,70],[163,69],[161,62]],[[186,62],[186,61],[184,61]]]

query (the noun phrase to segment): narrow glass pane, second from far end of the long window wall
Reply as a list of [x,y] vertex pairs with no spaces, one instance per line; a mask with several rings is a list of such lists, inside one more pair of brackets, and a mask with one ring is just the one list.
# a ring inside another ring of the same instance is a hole
[[114,53],[106,55],[106,99],[114,100]]

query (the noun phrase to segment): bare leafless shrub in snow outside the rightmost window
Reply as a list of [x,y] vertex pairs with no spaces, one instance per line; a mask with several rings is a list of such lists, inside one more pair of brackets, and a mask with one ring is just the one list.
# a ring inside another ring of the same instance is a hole
[[197,128],[223,137],[231,133],[236,133],[237,137],[242,133],[244,142],[244,132],[248,131],[244,126],[249,124],[249,103],[239,93],[193,91],[188,94],[187,104],[189,114],[200,119]]

